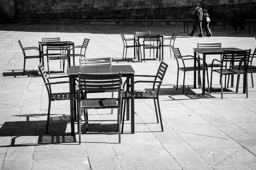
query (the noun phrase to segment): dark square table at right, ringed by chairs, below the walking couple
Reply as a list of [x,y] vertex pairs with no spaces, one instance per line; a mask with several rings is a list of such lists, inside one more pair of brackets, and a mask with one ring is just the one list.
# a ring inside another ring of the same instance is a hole
[[[198,54],[203,54],[203,83],[202,83],[202,94],[205,94],[205,60],[206,55],[216,55],[216,54],[223,54],[224,50],[241,50],[239,48],[193,48],[194,49],[194,57]],[[194,62],[196,66],[196,62]],[[231,80],[231,87],[233,87],[233,80]],[[196,88],[196,71],[194,71],[194,88]],[[245,93],[245,88],[244,88]]]

